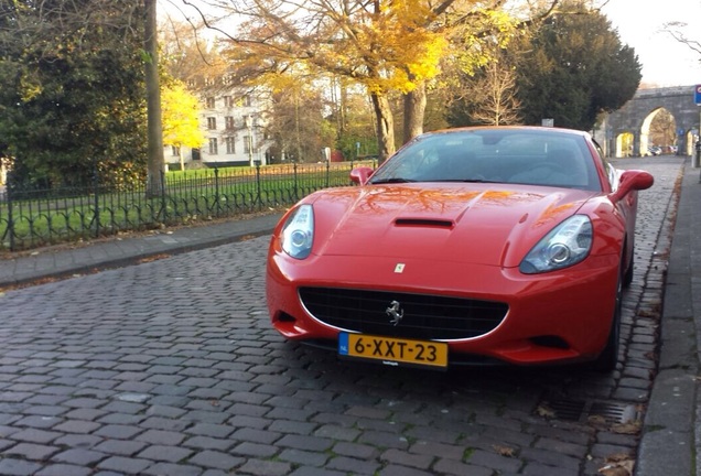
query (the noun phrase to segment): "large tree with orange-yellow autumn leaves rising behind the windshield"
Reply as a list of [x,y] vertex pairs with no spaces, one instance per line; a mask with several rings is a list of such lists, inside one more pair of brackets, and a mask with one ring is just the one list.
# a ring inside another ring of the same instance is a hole
[[[184,3],[194,6],[187,0]],[[375,111],[379,155],[384,159],[395,150],[390,94],[416,91],[407,99],[405,123],[408,134],[420,131],[425,82],[440,73],[440,61],[450,53],[449,30],[455,25],[467,29],[475,18],[484,20],[481,28],[489,19],[500,19],[493,13],[504,0],[199,3],[242,19],[236,22],[238,28],[223,26],[202,13],[209,28],[228,37],[227,53],[237,67],[280,74],[303,63],[320,75],[363,85]]]

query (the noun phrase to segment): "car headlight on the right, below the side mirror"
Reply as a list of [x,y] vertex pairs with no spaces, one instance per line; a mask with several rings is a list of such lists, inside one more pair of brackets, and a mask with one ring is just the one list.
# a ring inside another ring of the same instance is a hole
[[536,274],[571,267],[592,249],[592,221],[574,215],[554,227],[529,251],[518,267],[525,274]]

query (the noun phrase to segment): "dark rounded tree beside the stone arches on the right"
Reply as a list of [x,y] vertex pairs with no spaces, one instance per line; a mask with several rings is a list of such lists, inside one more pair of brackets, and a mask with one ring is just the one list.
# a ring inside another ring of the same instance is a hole
[[562,6],[522,46],[518,98],[526,123],[591,130],[602,112],[621,108],[637,90],[641,66],[611,22],[582,2]]

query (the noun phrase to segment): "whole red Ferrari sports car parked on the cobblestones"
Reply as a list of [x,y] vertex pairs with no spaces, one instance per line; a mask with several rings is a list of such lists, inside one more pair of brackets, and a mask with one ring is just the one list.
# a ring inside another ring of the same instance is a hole
[[267,301],[285,338],[390,366],[615,368],[648,172],[615,169],[586,132],[478,127],[350,178],[273,232]]

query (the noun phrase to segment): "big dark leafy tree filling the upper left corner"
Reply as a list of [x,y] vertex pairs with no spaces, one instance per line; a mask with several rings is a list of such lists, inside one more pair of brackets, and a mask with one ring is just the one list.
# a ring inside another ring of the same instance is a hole
[[131,1],[0,1],[0,137],[12,178],[119,180],[142,162],[142,11]]

